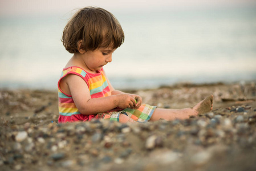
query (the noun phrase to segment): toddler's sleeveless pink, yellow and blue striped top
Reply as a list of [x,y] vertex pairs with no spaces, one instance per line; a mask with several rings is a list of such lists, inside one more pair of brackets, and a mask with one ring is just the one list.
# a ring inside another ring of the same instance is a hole
[[[103,68],[97,71],[96,74],[86,72],[79,67],[64,68],[60,80],[62,80],[62,78],[64,78],[67,74],[75,74],[83,78],[87,83],[88,88],[90,89],[91,98],[107,97],[111,95],[108,82],[103,72]],[[95,115],[83,115],[83,113],[80,113],[78,108],[76,108],[72,96],[67,95],[60,89],[60,80],[58,82],[60,114],[59,123],[92,120]]]

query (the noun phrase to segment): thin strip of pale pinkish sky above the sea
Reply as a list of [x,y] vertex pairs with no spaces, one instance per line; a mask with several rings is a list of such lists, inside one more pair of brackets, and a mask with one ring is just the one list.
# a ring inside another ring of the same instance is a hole
[[256,0],[0,0],[0,16],[68,13],[86,6],[103,7],[109,11],[153,10],[160,8],[212,7],[256,4]]

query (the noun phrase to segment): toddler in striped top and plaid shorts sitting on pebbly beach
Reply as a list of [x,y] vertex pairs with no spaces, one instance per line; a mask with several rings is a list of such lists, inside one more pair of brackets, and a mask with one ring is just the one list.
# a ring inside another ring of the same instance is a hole
[[104,9],[80,9],[64,28],[62,42],[74,55],[58,82],[59,123],[94,118],[120,123],[186,119],[212,110],[213,95],[192,108],[161,109],[142,104],[139,95],[114,89],[103,67],[112,62],[113,52],[123,44],[124,32]]

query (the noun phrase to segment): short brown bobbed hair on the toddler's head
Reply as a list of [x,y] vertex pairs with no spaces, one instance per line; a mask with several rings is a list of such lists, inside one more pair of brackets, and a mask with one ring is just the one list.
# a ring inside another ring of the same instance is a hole
[[63,30],[62,43],[71,54],[77,53],[82,40],[85,51],[100,47],[120,47],[124,42],[124,31],[115,16],[99,7],[80,9],[68,21]]

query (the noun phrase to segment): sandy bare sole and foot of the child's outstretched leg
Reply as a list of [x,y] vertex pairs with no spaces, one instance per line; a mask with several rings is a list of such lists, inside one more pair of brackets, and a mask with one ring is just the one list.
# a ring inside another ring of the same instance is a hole
[[213,95],[205,97],[204,100],[197,103],[192,109],[194,111],[194,115],[200,115],[212,111]]

